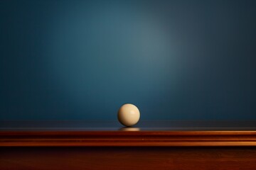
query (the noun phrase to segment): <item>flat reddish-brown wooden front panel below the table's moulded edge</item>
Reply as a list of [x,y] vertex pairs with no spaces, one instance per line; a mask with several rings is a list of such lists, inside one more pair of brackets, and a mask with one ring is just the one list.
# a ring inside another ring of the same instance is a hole
[[256,169],[256,147],[0,147],[0,169]]

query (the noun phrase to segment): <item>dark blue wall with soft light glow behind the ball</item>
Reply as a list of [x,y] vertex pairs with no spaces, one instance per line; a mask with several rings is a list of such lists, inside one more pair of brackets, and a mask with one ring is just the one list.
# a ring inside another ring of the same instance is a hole
[[0,0],[0,120],[256,119],[255,9]]

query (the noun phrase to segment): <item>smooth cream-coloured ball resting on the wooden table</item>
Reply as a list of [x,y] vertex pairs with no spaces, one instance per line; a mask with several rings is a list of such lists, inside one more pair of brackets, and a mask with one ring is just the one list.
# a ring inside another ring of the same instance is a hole
[[124,104],[117,113],[119,123],[125,126],[135,125],[139,122],[139,117],[139,109],[133,104]]

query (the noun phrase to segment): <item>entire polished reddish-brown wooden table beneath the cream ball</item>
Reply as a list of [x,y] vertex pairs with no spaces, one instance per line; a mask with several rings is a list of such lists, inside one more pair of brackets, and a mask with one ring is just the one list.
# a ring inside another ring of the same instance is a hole
[[256,169],[256,121],[1,121],[0,169]]

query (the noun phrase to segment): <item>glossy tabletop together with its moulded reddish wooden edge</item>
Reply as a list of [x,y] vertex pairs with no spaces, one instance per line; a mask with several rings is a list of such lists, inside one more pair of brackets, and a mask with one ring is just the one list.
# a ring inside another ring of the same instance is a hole
[[124,128],[117,121],[2,121],[0,146],[256,146],[256,123],[155,120]]

